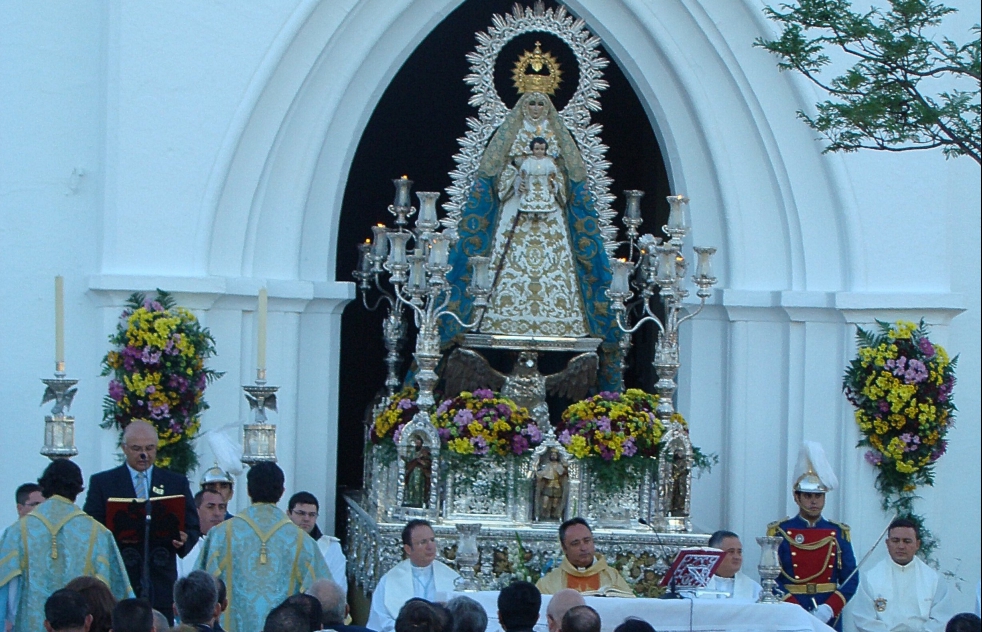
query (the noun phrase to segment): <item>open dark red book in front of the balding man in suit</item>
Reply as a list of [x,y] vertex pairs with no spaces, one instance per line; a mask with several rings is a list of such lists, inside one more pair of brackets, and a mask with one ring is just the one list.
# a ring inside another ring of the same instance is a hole
[[[170,544],[180,540],[184,531],[183,495],[157,496],[150,499],[150,541]],[[141,498],[110,498],[106,501],[106,527],[123,545],[143,542],[146,529],[147,501]]]

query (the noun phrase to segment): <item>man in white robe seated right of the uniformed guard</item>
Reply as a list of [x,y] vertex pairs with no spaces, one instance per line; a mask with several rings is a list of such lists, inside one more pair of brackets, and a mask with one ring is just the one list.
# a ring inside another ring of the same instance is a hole
[[941,632],[954,614],[944,577],[917,557],[920,529],[906,518],[890,523],[883,560],[863,575],[852,600],[860,632]]

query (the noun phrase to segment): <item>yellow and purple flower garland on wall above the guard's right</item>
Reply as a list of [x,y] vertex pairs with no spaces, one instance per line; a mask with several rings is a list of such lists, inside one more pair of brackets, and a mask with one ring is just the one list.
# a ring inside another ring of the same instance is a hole
[[[849,363],[842,389],[856,408],[856,423],[876,468],[876,489],[883,509],[909,517],[916,490],[934,484],[934,464],[945,453],[945,436],[954,423],[955,365],[943,347],[918,324],[877,321],[879,332],[857,327],[856,358]],[[932,542],[922,529],[924,548]]]

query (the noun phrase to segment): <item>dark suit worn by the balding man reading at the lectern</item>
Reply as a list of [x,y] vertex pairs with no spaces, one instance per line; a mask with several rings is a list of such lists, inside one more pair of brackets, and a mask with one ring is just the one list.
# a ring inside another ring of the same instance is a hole
[[[184,546],[174,551],[173,546],[157,547],[150,551],[150,595],[147,595],[153,607],[165,615],[173,612],[174,582],[177,581],[177,555],[184,557],[195,542],[201,537],[201,525],[198,522],[198,510],[194,505],[194,496],[188,479],[176,472],[160,467],[154,467],[150,476],[150,497],[183,495],[184,502],[184,531],[188,541]],[[106,501],[110,498],[133,498],[133,479],[126,465],[105,472],[93,474],[89,479],[88,494],[85,497],[83,510],[102,524],[106,524]],[[118,543],[117,543],[118,544]],[[140,578],[143,574],[143,550],[134,547],[120,546],[126,572],[130,577],[133,592],[140,595]],[[173,615],[171,615],[173,616]]]

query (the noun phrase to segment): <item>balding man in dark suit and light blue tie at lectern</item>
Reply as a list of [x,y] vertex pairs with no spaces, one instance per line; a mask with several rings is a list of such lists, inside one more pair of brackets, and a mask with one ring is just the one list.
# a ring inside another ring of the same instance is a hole
[[157,430],[145,421],[134,420],[123,431],[123,455],[126,463],[105,472],[93,474],[85,499],[85,513],[106,524],[106,502],[110,498],[154,498],[182,495],[184,531],[169,546],[150,551],[150,585],[142,587],[143,549],[120,544],[130,584],[138,596],[147,599],[173,623],[174,582],[177,581],[177,556],[187,555],[200,537],[198,510],[194,506],[188,479],[176,472],[155,467]]

